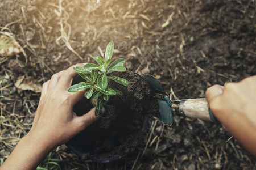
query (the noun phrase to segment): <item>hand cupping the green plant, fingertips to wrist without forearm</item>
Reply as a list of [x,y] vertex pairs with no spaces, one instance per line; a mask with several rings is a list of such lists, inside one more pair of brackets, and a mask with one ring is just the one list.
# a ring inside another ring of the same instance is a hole
[[94,108],[83,116],[77,116],[72,111],[73,105],[84,97],[85,93],[85,91],[68,92],[72,78],[77,74],[72,69],[75,66],[54,74],[42,87],[38,109],[28,134],[47,139],[47,145],[50,147],[68,142],[97,119],[94,116]]

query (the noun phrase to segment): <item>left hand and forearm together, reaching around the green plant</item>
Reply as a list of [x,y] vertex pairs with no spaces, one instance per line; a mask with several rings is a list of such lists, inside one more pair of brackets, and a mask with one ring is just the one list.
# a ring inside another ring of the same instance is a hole
[[73,113],[86,90],[71,93],[72,68],[54,74],[43,84],[38,109],[30,132],[21,139],[1,169],[35,169],[43,158],[56,146],[64,144],[77,133],[97,120],[94,108],[83,116]]

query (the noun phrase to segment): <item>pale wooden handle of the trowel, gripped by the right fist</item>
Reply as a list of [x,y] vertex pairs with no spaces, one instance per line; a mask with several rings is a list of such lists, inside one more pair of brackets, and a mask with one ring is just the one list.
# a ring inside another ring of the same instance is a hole
[[182,100],[179,104],[179,112],[187,117],[217,122],[205,98]]

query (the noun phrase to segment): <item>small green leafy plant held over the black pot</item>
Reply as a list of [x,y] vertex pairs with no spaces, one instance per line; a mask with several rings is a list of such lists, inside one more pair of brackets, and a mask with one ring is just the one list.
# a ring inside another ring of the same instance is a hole
[[[68,88],[69,92],[82,91],[88,88],[84,96],[87,99],[97,99],[95,115],[98,116],[104,104],[104,100],[108,101],[110,96],[122,95],[122,92],[111,88],[112,81],[128,86],[129,81],[118,76],[109,75],[114,71],[126,71],[123,65],[125,59],[119,58],[112,62],[111,58],[114,52],[114,43],[110,41],[106,47],[105,58],[93,57],[98,63],[87,63],[84,67],[74,67],[73,69],[83,78],[86,82],[75,84]],[[110,62],[112,62],[110,64]],[[109,65],[110,64],[110,65]]]

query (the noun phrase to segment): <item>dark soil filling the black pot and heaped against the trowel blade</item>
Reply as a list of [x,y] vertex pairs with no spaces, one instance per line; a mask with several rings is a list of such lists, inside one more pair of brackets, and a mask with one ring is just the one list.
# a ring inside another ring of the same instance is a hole
[[[129,80],[128,87],[112,84],[113,88],[123,92],[123,96],[110,97],[100,119],[68,142],[82,153],[80,156],[84,160],[128,154],[142,139],[147,114],[158,112],[157,101],[152,97],[154,90],[143,76],[129,71],[113,75]],[[77,76],[73,84],[81,81],[82,78]],[[90,101],[83,98],[73,111],[81,116],[91,108]]]

